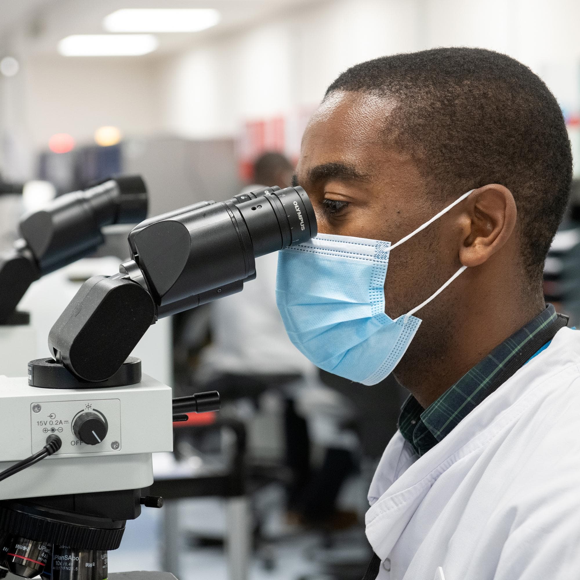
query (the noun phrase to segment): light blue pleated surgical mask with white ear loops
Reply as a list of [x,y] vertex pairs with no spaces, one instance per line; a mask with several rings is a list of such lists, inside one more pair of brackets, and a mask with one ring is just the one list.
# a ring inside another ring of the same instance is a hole
[[407,314],[385,313],[389,255],[464,200],[462,195],[396,244],[318,234],[278,255],[276,302],[292,343],[317,367],[363,385],[376,385],[397,366],[415,336],[413,314],[443,291],[466,266]]

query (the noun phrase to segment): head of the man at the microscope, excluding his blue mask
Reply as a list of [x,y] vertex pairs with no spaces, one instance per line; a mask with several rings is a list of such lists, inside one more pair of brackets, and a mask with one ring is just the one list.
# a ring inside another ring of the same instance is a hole
[[470,266],[417,314],[415,350],[437,357],[465,311],[485,316],[484,303],[502,293],[541,300],[571,168],[560,108],[541,79],[490,50],[444,48],[341,74],[306,129],[297,180],[320,231],[390,242],[476,189],[390,255],[391,317]]

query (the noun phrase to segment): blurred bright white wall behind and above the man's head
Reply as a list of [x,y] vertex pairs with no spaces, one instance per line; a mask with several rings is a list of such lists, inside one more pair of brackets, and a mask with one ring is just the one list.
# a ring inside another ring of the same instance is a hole
[[577,0],[334,0],[198,46],[161,67],[161,123],[235,135],[241,123],[311,107],[351,64],[433,46],[506,52],[580,110]]

